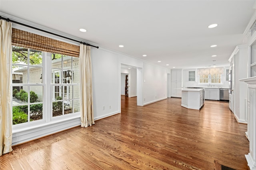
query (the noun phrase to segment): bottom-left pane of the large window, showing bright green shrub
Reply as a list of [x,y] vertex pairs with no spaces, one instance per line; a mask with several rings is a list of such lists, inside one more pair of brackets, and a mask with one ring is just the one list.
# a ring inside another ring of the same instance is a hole
[[12,107],[12,124],[28,122],[28,105]]

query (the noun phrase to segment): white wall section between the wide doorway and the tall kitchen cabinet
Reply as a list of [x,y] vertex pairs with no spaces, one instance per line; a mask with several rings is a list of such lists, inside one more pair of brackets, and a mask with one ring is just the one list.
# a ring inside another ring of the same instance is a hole
[[143,63],[144,105],[167,98],[166,68]]

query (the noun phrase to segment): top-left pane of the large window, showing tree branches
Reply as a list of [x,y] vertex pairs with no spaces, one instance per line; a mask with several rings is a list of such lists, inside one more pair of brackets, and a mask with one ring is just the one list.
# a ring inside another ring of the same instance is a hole
[[28,64],[28,49],[12,46],[12,63]]

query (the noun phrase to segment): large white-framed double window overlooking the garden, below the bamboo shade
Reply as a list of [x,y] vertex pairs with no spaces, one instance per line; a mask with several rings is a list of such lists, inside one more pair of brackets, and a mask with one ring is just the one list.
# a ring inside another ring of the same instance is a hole
[[12,49],[13,125],[29,126],[78,114],[78,57]]

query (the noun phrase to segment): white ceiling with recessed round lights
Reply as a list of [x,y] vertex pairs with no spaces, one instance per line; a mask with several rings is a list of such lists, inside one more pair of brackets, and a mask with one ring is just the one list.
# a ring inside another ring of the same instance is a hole
[[[246,43],[254,2],[0,0],[0,12],[166,68],[202,68],[229,65],[236,45]],[[209,29],[212,23],[218,27]]]

